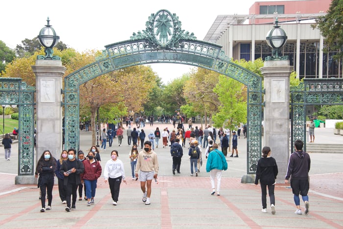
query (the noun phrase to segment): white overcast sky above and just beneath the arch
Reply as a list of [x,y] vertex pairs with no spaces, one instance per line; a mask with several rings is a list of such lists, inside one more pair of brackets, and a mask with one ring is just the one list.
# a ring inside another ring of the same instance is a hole
[[[33,39],[50,25],[60,41],[82,52],[103,50],[105,45],[129,40],[142,31],[152,13],[175,13],[181,28],[203,40],[218,15],[248,14],[256,0],[8,0],[1,2],[0,40],[10,48]],[[265,0],[259,0],[265,1]],[[164,83],[190,72],[182,64],[151,64]]]

